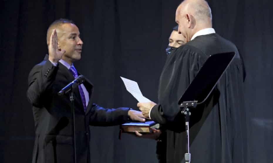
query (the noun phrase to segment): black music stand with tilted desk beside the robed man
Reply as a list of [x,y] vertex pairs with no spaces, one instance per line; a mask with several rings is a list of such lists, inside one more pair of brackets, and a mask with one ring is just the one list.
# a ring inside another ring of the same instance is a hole
[[191,161],[189,141],[190,111],[192,108],[205,102],[234,56],[235,52],[210,55],[178,101],[178,105],[182,109],[181,113],[185,116],[186,122],[186,163],[190,163]]

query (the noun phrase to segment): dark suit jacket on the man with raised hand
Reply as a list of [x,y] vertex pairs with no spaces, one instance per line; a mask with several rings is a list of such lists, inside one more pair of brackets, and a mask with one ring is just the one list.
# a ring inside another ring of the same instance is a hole
[[[53,66],[48,56],[29,73],[27,97],[32,104],[36,133],[33,163],[73,162],[72,105],[69,95],[57,94],[73,80],[72,73],[64,65],[58,63],[57,67]],[[89,125],[112,126],[124,123],[128,121],[129,108],[105,109],[93,104],[93,85],[88,80],[83,84],[90,101],[84,112],[78,87],[75,88],[75,142],[77,162],[89,163]]]

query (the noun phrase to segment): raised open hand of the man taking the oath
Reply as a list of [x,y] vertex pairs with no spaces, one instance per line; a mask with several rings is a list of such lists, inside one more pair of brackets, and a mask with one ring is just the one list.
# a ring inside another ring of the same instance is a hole
[[65,53],[65,50],[58,49],[58,37],[56,29],[54,29],[50,36],[49,46],[48,46],[48,59],[53,62],[57,63]]

